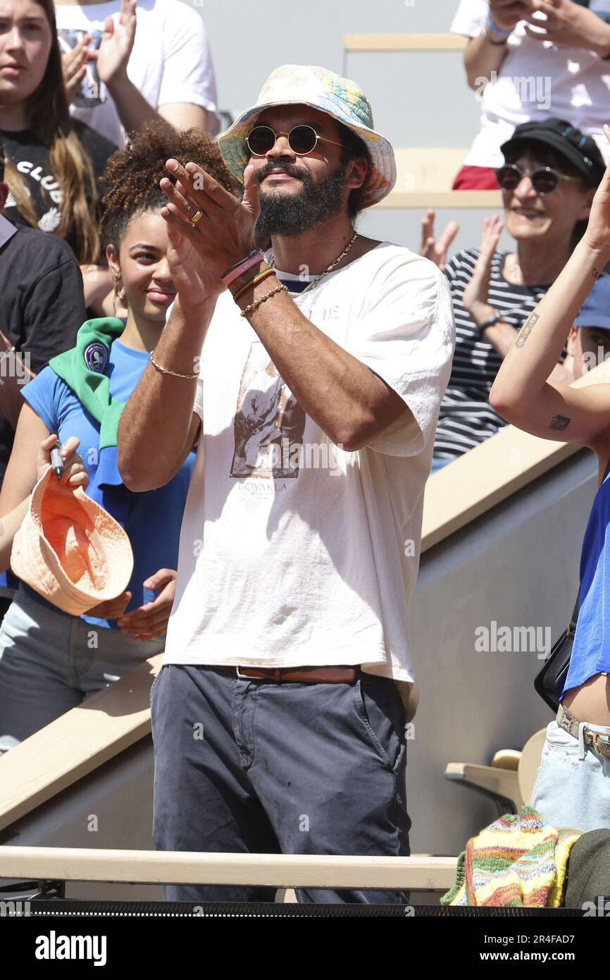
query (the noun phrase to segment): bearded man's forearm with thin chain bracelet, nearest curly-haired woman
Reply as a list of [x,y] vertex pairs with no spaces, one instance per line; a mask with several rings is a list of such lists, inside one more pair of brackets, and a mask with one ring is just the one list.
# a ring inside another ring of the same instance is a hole
[[[155,361],[179,374],[197,372],[214,305],[215,299],[185,312],[176,300]],[[118,470],[130,490],[156,489],[174,475],[193,417],[196,385],[196,378],[175,377],[147,365],[118,425]]]

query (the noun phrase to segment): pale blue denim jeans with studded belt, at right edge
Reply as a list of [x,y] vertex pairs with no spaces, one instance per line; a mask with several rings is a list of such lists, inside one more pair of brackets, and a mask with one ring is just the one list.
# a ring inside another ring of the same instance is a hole
[[553,827],[610,829],[610,759],[585,746],[551,721],[546,728],[531,806]]

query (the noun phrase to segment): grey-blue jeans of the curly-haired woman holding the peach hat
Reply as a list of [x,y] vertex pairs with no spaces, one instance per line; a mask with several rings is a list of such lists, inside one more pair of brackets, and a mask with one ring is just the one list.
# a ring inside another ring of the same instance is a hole
[[0,626],[0,751],[164,650],[48,609],[17,590]]

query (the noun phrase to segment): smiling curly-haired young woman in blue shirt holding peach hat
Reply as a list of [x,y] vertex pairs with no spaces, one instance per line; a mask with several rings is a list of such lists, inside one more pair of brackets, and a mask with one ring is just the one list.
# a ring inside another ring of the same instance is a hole
[[[164,648],[182,512],[194,462],[185,456],[164,487],[132,493],[116,466],[117,420],[149,363],[175,295],[167,253],[165,196],[170,157],[198,160],[227,189],[233,178],[204,133],[149,124],[110,159],[101,225],[106,256],[125,299],[126,321],[83,323],[76,346],[23,388],[0,515],[20,505],[36,479],[36,450],[49,433],[80,440],[87,493],[124,526],[134,555],[127,590],[81,617],[63,613],[23,583],[0,628],[0,749],[15,744]],[[196,366],[194,368],[196,370]],[[159,593],[156,595],[156,593]]]

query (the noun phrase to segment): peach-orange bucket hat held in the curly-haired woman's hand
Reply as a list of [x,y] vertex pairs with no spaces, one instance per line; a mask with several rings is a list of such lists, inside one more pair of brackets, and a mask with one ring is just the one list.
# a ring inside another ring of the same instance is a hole
[[49,466],[13,540],[11,568],[43,599],[80,615],[125,591],[133,552],[117,520]]

